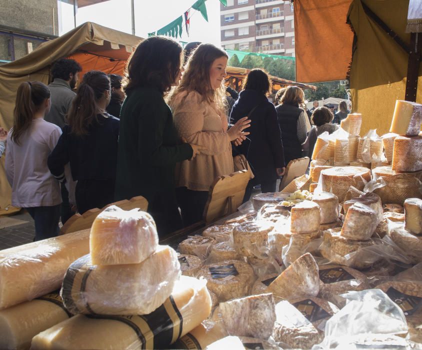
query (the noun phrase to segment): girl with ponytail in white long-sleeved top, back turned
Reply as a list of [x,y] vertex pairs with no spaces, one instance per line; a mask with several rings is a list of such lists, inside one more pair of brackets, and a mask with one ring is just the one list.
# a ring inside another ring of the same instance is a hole
[[47,156],[61,130],[44,120],[50,105],[46,85],[22,82],[16,93],[13,127],[7,135],[5,168],[12,187],[11,203],[25,208],[35,221],[34,240],[58,234],[60,186],[48,171]]

